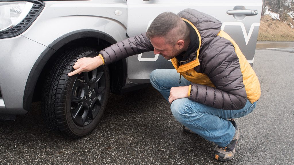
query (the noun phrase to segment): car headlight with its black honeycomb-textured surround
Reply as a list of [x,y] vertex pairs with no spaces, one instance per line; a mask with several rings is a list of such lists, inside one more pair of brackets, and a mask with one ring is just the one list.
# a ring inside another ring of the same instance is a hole
[[0,38],[9,38],[21,34],[37,18],[44,3],[40,1],[0,2]]

